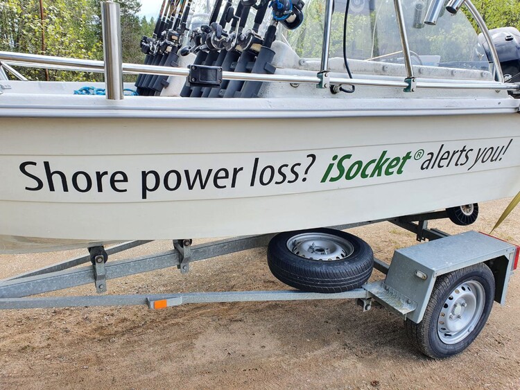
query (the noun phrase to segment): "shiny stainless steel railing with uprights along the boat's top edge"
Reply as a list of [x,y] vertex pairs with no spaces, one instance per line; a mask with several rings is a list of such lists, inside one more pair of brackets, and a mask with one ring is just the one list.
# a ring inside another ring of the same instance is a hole
[[[435,0],[431,6],[435,6],[438,1],[444,4],[444,0]],[[496,82],[493,81],[471,81],[471,80],[439,80],[432,82],[431,80],[421,80],[416,78],[413,73],[413,66],[411,59],[408,62],[406,57],[410,57],[410,48],[406,39],[406,30],[404,29],[404,20],[402,19],[401,0],[395,0],[396,15],[398,17],[399,29],[401,30],[401,44],[403,46],[403,53],[405,57],[406,79],[404,80],[374,80],[368,78],[349,78],[349,77],[331,77],[329,71],[329,44],[330,44],[330,30],[331,30],[331,15],[333,9],[333,0],[327,1],[326,17],[324,23],[323,36],[323,51],[321,58],[321,71],[315,76],[301,76],[301,75],[284,75],[284,74],[259,74],[259,73],[242,73],[233,71],[223,71],[222,77],[224,80],[244,80],[244,81],[259,81],[259,82],[286,82],[293,84],[314,84],[318,87],[329,88],[331,85],[355,85],[367,87],[392,87],[403,88],[406,91],[413,92],[415,89],[481,89],[481,90],[507,90],[519,91],[520,85],[505,83],[503,75],[499,67],[498,55],[496,49],[492,44],[492,38],[489,35],[489,30],[485,25],[473,3],[465,0],[465,4],[470,12],[474,15],[480,30],[483,31],[497,72]],[[10,53],[0,51],[0,62],[5,69],[13,73],[17,78],[20,78],[15,69],[10,65],[20,67],[33,67],[55,69],[62,71],[85,71],[94,73],[104,73],[105,83],[107,86],[107,98],[118,100],[122,98],[123,74],[149,74],[159,76],[178,76],[187,78],[190,74],[189,69],[182,68],[168,68],[145,64],[127,64],[119,62],[121,58],[121,30],[120,28],[113,28],[119,21],[119,4],[112,1],[105,1],[102,3],[104,12],[102,13],[103,24],[103,49],[105,61],[96,60],[79,60],[74,58],[53,57],[48,55],[33,55],[25,53]],[[112,25],[110,28],[109,25]],[[21,76],[23,78],[23,76]],[[119,90],[121,89],[121,94]]]

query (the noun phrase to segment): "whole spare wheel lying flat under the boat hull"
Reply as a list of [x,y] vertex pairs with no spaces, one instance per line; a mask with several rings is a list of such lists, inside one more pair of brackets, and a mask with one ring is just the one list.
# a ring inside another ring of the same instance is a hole
[[279,281],[309,292],[354,290],[374,267],[370,245],[334,229],[279,233],[269,242],[267,259]]

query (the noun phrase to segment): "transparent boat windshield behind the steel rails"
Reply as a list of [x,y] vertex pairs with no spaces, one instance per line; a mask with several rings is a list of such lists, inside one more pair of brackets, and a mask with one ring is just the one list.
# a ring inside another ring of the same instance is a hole
[[[478,43],[479,30],[474,18],[462,8],[456,15],[443,10],[435,26],[424,24],[431,1],[402,1],[406,33],[412,62],[417,76],[474,78],[493,80],[492,64]],[[349,60],[404,64],[403,48],[393,0],[351,0],[344,29],[347,0],[336,0],[331,28],[331,61]],[[321,55],[325,0],[309,0],[305,6],[305,21],[301,28],[284,31],[284,38],[297,55],[318,59]],[[344,36],[345,31],[345,46]],[[318,62],[314,63],[318,66]],[[462,72],[424,71],[425,67],[466,69]],[[376,69],[375,67],[372,67]],[[354,69],[356,65],[354,64]],[[377,68],[381,69],[381,68]],[[405,76],[404,67],[399,76]],[[313,70],[320,70],[315,67]],[[332,69],[334,70],[334,69]],[[479,71],[479,72],[471,72]],[[391,73],[395,73],[391,72]],[[484,71],[484,72],[483,72]]]

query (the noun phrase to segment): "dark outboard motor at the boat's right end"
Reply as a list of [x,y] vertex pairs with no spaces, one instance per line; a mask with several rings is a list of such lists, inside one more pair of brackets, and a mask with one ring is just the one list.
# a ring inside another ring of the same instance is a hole
[[[489,30],[500,66],[506,82],[520,82],[520,32],[514,27],[502,27]],[[488,58],[491,58],[489,47],[482,34],[478,42],[483,46]]]

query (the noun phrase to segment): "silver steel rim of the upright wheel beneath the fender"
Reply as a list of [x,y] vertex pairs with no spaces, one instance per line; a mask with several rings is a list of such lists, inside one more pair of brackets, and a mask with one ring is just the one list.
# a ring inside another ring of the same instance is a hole
[[454,289],[442,305],[437,334],[444,344],[457,344],[475,329],[484,312],[485,290],[476,281],[467,281]]

